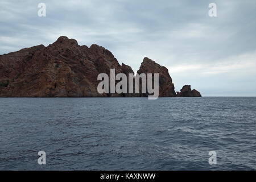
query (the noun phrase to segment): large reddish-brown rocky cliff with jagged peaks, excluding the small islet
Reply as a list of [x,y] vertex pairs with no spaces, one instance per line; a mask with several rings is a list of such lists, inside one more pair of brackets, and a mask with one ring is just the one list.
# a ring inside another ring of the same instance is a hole
[[[24,48],[0,55],[0,97],[144,97],[147,94],[100,94],[97,76],[110,69],[134,73],[104,47],[79,46],[61,36],[47,47]],[[176,96],[167,68],[144,58],[138,73],[159,73],[159,97]]]

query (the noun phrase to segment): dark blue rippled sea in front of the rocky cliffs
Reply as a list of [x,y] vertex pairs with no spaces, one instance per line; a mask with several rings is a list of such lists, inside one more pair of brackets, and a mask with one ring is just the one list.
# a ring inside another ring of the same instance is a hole
[[1,170],[255,170],[256,97],[0,98],[0,137]]

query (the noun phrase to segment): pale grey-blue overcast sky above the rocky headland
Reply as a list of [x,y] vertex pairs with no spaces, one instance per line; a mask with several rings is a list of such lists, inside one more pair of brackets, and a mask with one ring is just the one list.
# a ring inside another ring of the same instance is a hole
[[[217,17],[208,15],[212,2]],[[176,91],[189,84],[203,96],[256,96],[255,0],[1,0],[0,24],[0,54],[65,35],[109,49],[134,72],[143,57],[155,60]]]

